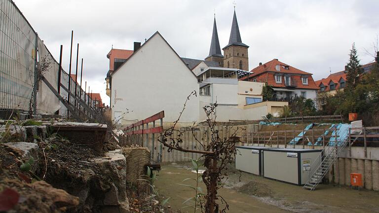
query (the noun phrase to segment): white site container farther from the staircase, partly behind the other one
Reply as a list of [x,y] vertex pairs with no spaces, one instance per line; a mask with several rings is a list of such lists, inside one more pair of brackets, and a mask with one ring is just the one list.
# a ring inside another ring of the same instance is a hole
[[271,147],[264,146],[236,146],[235,168],[237,170],[263,175],[263,152]]

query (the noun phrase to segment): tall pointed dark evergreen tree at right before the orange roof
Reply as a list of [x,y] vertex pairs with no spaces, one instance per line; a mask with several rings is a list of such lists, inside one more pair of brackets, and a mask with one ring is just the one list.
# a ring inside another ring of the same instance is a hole
[[363,69],[362,66],[359,64],[357,49],[355,49],[355,43],[353,43],[352,48],[350,50],[349,63],[347,63],[346,69],[346,80],[348,89],[354,89],[358,85],[362,73]]

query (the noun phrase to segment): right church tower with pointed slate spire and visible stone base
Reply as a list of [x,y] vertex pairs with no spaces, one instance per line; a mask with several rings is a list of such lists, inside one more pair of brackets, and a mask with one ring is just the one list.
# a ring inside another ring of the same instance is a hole
[[237,16],[233,15],[229,43],[223,48],[224,50],[224,67],[235,68],[240,70],[249,70],[249,57],[247,54],[248,45],[242,43],[241,35],[239,34]]

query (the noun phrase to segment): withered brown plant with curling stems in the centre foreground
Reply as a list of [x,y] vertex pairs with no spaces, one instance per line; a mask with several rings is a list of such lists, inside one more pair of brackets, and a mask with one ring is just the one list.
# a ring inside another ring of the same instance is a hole
[[[207,194],[204,195],[205,204],[200,204],[204,207],[205,213],[225,213],[229,209],[229,205],[226,200],[217,194],[217,190],[221,187],[218,185],[225,176],[227,175],[227,165],[233,162],[234,156],[236,154],[235,140],[230,140],[235,138],[236,132],[241,129],[237,128],[229,139],[220,138],[219,130],[216,129],[216,118],[217,118],[217,103],[211,106],[204,106],[204,112],[207,116],[206,123],[210,131],[210,142],[209,144],[204,144],[201,142],[195,134],[195,123],[191,127],[192,135],[195,141],[202,147],[203,150],[191,150],[182,147],[183,135],[185,131],[177,130],[177,126],[180,118],[186,109],[187,102],[191,96],[196,96],[196,91],[191,92],[187,97],[186,102],[183,106],[182,111],[179,114],[178,119],[174,122],[174,125],[166,130],[158,141],[164,146],[168,147],[168,151],[173,149],[183,152],[200,153],[204,158],[204,166],[206,167],[205,172],[202,174],[203,182],[207,188]],[[230,128],[230,127],[226,127]],[[231,128],[230,128],[231,129]],[[174,137],[174,132],[178,132],[178,136]],[[220,209],[220,204],[217,201],[221,201],[225,205],[223,209]]]

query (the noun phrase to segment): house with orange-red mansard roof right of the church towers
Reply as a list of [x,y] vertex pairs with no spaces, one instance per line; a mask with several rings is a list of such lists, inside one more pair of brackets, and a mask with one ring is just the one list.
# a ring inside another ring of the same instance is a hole
[[267,83],[275,91],[274,100],[291,101],[296,97],[316,99],[319,87],[315,84],[312,73],[301,71],[278,59],[260,63],[251,72],[240,80]]

